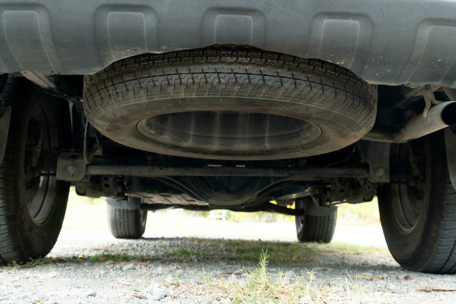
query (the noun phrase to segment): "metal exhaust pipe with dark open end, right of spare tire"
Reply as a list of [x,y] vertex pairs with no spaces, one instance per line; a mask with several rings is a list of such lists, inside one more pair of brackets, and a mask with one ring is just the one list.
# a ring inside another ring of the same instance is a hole
[[385,143],[405,143],[432,132],[456,125],[456,101],[430,108],[427,118],[418,115],[399,128],[373,128],[362,139]]

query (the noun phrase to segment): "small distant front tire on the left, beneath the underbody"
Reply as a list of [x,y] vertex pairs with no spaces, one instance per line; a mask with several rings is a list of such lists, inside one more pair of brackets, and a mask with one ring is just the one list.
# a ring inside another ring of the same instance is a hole
[[115,238],[140,238],[144,234],[146,210],[127,210],[107,205],[109,232]]

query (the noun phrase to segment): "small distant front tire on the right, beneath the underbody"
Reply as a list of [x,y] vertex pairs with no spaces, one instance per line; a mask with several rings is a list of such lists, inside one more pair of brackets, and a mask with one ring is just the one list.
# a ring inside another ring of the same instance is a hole
[[[300,202],[297,201],[297,208],[302,209]],[[334,235],[337,221],[337,210],[328,215],[295,216],[296,235],[300,242],[319,242],[329,243]]]

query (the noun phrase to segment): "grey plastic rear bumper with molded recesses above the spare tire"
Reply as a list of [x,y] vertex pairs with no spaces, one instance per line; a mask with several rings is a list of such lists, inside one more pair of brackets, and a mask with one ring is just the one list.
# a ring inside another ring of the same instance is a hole
[[453,0],[9,0],[0,72],[93,74],[213,44],[319,58],[371,83],[456,88]]

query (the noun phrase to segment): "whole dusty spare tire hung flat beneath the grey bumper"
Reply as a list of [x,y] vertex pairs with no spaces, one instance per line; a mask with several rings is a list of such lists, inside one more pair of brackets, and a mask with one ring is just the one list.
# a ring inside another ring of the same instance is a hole
[[256,50],[144,54],[84,77],[84,111],[116,142],[207,159],[318,155],[373,126],[377,86],[345,68]]

